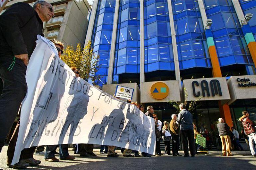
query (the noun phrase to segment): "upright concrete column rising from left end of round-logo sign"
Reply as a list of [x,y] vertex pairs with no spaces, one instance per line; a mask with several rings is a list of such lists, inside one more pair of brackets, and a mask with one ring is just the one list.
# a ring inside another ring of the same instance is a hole
[[140,1],[140,83],[145,82],[144,57],[144,5]]

